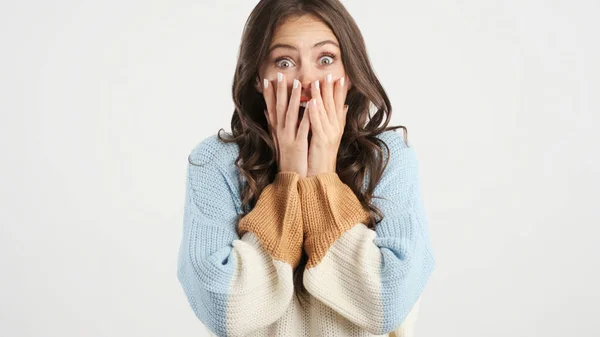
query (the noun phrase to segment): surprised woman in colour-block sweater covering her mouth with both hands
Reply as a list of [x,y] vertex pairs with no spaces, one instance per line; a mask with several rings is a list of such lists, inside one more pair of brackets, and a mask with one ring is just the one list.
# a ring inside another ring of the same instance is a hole
[[188,158],[196,316],[213,336],[412,335],[435,265],[417,160],[343,5],[260,1],[233,99],[233,137]]

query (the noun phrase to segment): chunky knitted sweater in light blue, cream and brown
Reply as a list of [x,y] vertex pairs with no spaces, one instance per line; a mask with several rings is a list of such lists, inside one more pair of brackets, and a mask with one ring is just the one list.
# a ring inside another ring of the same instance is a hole
[[[211,336],[412,336],[435,260],[415,152],[395,131],[378,137],[390,161],[374,230],[337,173],[279,172],[244,215],[237,145],[215,134],[193,148],[177,277]],[[303,249],[302,307],[292,276]]]

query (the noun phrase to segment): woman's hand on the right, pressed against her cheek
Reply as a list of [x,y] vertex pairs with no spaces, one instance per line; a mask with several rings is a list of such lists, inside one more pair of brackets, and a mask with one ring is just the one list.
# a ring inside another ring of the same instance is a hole
[[318,80],[311,84],[312,100],[308,110],[312,138],[308,151],[307,177],[336,172],[337,153],[348,113],[348,106],[344,105],[348,82],[344,77],[333,82],[329,74],[322,84]]

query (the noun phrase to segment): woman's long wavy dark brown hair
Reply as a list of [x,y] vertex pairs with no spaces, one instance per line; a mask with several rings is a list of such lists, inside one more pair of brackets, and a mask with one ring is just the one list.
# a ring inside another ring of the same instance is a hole
[[[223,142],[235,142],[239,156],[235,165],[244,180],[241,192],[243,213],[256,205],[262,190],[273,182],[278,172],[275,144],[270,136],[264,111],[262,93],[256,89],[259,69],[267,57],[275,28],[286,19],[313,15],[333,31],[341,49],[341,60],[353,86],[348,91],[346,125],[337,154],[336,172],[370,213],[369,228],[375,228],[383,219],[381,211],[371,203],[373,190],[387,166],[383,162],[383,147],[387,144],[377,135],[387,130],[404,129],[407,143],[408,130],[404,126],[387,127],[392,105],[370,64],[365,42],[354,19],[339,0],[262,0],[250,13],[240,44],[233,78],[235,110],[231,118],[232,135]],[[260,82],[258,82],[260,83]],[[374,111],[372,112],[372,106]],[[389,159],[389,157],[388,157]],[[363,189],[365,176],[369,183]],[[308,257],[303,250],[300,264],[294,270],[294,286],[300,300],[304,295],[304,268]],[[300,304],[302,301],[300,301]]]

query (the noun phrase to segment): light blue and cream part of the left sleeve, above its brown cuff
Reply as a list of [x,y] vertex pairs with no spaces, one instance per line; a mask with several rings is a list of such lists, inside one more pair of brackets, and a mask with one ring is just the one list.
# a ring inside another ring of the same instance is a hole
[[276,264],[252,232],[237,234],[239,190],[224,161],[228,151],[213,136],[189,155],[177,277],[204,325],[218,336],[242,336],[284,314],[292,271]]

